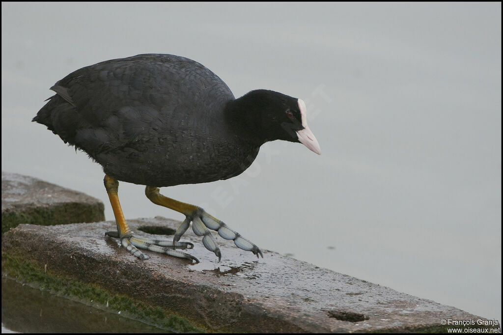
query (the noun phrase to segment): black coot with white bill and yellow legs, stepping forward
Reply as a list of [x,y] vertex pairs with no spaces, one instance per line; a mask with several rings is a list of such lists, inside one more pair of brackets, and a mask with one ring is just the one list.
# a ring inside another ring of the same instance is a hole
[[[235,99],[225,82],[200,63],[169,54],[142,54],[82,67],[55,83],[56,94],[32,121],[103,166],[105,188],[120,238],[134,256],[138,248],[199,262],[174,250],[189,228],[220,260],[209,229],[237,247],[263,257],[257,245],[228,228],[201,207],[167,198],[159,187],[224,180],[241,174],[262,144],[277,139],[300,142],[320,154],[307,127],[301,99],[268,91],[251,91]],[[173,241],[136,237],[117,196],[118,181],[146,185],[154,204],[186,216]]]

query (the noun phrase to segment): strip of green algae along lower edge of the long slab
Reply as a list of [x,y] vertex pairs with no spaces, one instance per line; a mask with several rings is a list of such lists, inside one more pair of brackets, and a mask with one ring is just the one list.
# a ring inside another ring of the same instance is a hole
[[2,253],[2,275],[52,294],[64,296],[73,301],[90,304],[96,308],[115,311],[132,318],[173,332],[205,332],[187,319],[164,311],[160,307],[120,294],[111,294],[105,289],[69,278],[52,274],[35,263],[20,257]]

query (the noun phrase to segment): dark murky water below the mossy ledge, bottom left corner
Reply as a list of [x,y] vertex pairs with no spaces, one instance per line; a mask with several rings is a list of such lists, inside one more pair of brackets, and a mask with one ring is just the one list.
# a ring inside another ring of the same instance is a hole
[[2,332],[169,332],[2,278]]

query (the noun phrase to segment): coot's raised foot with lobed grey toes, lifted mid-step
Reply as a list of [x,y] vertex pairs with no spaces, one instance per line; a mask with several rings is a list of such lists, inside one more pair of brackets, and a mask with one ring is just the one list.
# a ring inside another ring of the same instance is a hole
[[182,224],[178,227],[175,236],[173,237],[173,243],[178,243],[180,237],[182,237],[189,228],[191,221],[194,233],[198,236],[203,236],[204,246],[211,252],[215,253],[218,257],[218,261],[220,261],[222,254],[220,253],[220,248],[218,247],[215,238],[208,229],[217,231],[218,234],[225,239],[233,240],[234,244],[238,248],[254,253],[254,255],[257,255],[257,258],[259,258],[259,255],[264,258],[264,255],[262,255],[262,252],[257,245],[242,237],[238,232],[230,229],[219,219],[206,213],[201,207],[197,207],[191,213],[186,214],[184,222],[182,222]]

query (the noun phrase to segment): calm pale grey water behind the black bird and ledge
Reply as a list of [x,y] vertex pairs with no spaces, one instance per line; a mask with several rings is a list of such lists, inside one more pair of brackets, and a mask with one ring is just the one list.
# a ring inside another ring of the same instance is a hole
[[[321,146],[267,143],[236,178],[161,193],[261,248],[501,320],[500,3],[2,3],[2,170],[112,220],[101,167],[30,121],[66,74],[140,53],[197,60],[236,97],[302,98]],[[126,218],[183,219],[142,186],[119,196]]]

